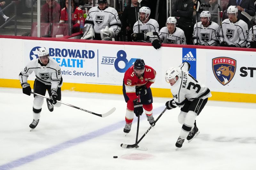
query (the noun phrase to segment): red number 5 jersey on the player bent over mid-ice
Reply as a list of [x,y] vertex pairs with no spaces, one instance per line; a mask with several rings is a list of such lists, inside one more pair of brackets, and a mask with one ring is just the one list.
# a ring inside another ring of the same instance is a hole
[[139,78],[136,76],[132,65],[128,70],[124,73],[124,85],[126,94],[131,101],[137,98],[136,95],[136,87],[146,85],[147,88],[150,87],[152,83],[155,82],[156,71],[147,65],[145,65],[145,71],[143,75]]

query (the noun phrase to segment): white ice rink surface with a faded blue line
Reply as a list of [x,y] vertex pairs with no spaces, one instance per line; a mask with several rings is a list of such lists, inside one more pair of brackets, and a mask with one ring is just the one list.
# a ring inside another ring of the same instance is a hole
[[[148,151],[124,149],[134,144],[137,119],[125,136],[123,95],[62,92],[62,101],[102,118],[62,105],[49,112],[44,100],[38,126],[32,122],[33,97],[22,89],[0,88],[0,169],[19,170],[255,170],[256,104],[208,101],[196,118],[200,134],[175,151],[181,125],[179,108],[167,110],[140,142]],[[155,119],[167,98],[153,98]],[[139,138],[149,128],[140,118]],[[113,156],[118,156],[114,159]]]

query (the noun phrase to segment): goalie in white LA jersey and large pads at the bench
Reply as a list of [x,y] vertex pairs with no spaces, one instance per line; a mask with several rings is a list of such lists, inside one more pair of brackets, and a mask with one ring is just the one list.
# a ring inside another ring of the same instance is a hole
[[121,30],[121,21],[115,8],[107,6],[107,0],[99,0],[99,6],[92,7],[84,22],[84,36],[81,39],[107,40],[115,38]]

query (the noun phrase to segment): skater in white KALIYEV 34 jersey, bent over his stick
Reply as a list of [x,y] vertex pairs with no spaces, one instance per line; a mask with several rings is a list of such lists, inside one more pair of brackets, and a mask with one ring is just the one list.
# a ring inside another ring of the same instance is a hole
[[210,90],[192,77],[188,71],[190,64],[182,63],[178,68],[169,68],[165,74],[165,80],[171,85],[173,99],[167,101],[167,109],[181,107],[178,121],[182,124],[180,137],[176,142],[176,147],[180,148],[187,138],[190,142],[199,134],[196,126],[196,116],[200,114],[209,97],[212,96]]

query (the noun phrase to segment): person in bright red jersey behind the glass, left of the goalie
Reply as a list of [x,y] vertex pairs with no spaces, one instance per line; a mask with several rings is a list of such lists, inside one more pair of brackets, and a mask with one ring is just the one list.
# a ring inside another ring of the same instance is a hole
[[[84,12],[83,10],[81,10],[78,7],[74,7],[74,0],[71,0],[71,16],[72,16],[72,24],[73,24],[73,29],[72,29],[72,33],[77,33],[79,32],[79,27],[80,27],[80,15],[83,16]],[[68,0],[66,0],[66,7],[64,7],[61,10],[61,14],[60,14],[60,23],[65,23],[68,21]]]

